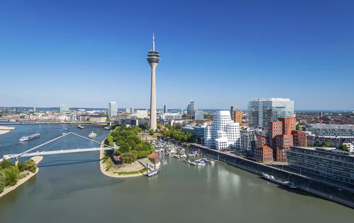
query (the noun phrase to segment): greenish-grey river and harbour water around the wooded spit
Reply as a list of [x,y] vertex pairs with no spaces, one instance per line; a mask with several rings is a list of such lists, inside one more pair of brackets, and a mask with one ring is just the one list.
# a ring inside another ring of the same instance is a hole
[[[80,130],[75,125],[18,125],[0,135],[0,156],[58,137],[63,128],[85,137],[94,130],[98,142],[109,133],[89,126]],[[40,138],[17,143],[22,135],[36,132]],[[63,138],[38,150],[98,146],[77,136]],[[45,156],[37,175],[0,198],[0,222],[353,221],[351,208],[299,190],[284,190],[225,164],[195,167],[167,158],[168,164],[155,177],[112,178],[100,172],[98,156],[98,152]]]

